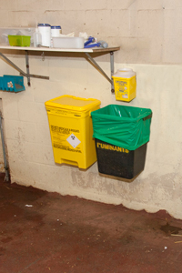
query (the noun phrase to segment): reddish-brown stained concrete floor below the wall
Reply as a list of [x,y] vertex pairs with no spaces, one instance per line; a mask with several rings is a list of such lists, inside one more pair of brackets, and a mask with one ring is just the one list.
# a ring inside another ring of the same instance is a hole
[[180,273],[182,221],[4,182],[0,273]]

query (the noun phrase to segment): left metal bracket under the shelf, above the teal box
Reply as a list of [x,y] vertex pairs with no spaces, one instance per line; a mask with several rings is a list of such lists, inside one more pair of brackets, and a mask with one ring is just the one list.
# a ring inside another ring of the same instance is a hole
[[12,61],[10,61],[3,53],[0,52],[0,56],[2,56],[10,66],[13,66],[17,71],[19,71],[21,76],[25,76],[27,78],[28,86],[30,86],[30,77],[42,78],[42,79],[47,79],[47,80],[49,79],[49,76],[39,76],[39,75],[30,74],[28,51],[25,51],[26,73],[22,69],[20,69],[18,66],[15,66],[15,64]]

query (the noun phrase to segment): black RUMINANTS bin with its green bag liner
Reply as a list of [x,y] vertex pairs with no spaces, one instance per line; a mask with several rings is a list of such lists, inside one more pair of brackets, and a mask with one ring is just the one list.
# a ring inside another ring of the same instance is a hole
[[132,179],[145,167],[152,111],[109,105],[91,112],[100,173]]

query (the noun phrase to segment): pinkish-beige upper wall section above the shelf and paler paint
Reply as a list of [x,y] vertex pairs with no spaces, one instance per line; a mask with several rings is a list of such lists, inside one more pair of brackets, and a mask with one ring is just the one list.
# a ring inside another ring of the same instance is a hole
[[61,25],[121,45],[117,63],[180,64],[180,0],[1,0],[0,26]]

